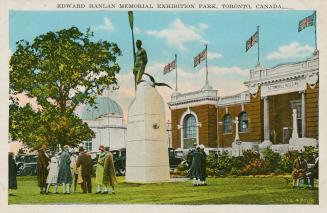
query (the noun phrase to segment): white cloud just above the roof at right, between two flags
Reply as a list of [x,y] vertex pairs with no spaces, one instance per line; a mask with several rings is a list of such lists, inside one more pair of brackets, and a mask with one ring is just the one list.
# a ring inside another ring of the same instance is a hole
[[266,56],[268,60],[280,60],[280,59],[296,59],[308,57],[314,48],[308,44],[301,45],[297,42],[292,42],[288,45],[284,45],[278,48],[277,51],[272,52]]

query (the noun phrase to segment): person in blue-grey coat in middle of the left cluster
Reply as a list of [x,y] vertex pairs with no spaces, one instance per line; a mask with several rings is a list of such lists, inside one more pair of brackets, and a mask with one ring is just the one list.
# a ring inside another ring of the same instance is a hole
[[69,146],[65,145],[59,158],[58,184],[62,184],[62,193],[70,194],[69,185],[72,183],[72,173],[70,170]]

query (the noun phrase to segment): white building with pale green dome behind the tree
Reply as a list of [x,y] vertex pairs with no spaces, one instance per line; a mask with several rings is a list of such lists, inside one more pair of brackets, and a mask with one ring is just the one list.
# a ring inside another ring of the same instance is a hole
[[95,138],[85,141],[88,151],[98,151],[100,145],[109,146],[110,149],[126,147],[126,126],[123,121],[123,111],[119,104],[109,97],[99,96],[96,105],[86,105],[81,118],[95,132]]

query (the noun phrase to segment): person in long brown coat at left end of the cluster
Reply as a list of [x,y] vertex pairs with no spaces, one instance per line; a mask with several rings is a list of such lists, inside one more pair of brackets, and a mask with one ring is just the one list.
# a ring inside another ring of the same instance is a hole
[[37,182],[40,187],[40,194],[46,193],[49,157],[46,154],[47,145],[42,144],[38,150],[37,158]]

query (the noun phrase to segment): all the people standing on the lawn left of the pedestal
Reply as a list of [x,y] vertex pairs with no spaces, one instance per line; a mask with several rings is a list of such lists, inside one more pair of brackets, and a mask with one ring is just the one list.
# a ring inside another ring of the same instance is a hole
[[[37,180],[40,194],[49,194],[53,186],[54,194],[58,194],[57,188],[62,185],[62,193],[76,192],[78,184],[83,193],[92,193],[92,169],[91,155],[83,146],[79,146],[78,152],[69,152],[69,146],[65,145],[61,153],[50,154],[46,145],[38,150]],[[14,154],[9,153],[9,195],[14,195],[17,189],[17,167]],[[109,147],[100,145],[96,164],[96,194],[115,194],[114,187],[117,184],[113,155]]]

